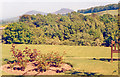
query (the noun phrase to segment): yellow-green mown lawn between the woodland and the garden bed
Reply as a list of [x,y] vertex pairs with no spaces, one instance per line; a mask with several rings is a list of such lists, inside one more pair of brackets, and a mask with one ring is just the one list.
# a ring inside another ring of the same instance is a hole
[[[118,61],[113,63],[102,60],[93,60],[93,58],[110,58],[110,47],[91,47],[91,46],[65,46],[65,45],[17,45],[18,49],[25,47],[31,49],[38,49],[43,53],[50,51],[58,51],[62,53],[65,51],[67,54],[64,56],[66,62],[73,65],[73,68],[79,71],[94,72],[103,75],[117,75],[118,74]],[[2,64],[5,64],[4,59],[12,59],[10,44],[2,44]],[[114,54],[117,58],[118,54]],[[115,72],[113,72],[115,71]],[[2,72],[2,74],[7,74]]]

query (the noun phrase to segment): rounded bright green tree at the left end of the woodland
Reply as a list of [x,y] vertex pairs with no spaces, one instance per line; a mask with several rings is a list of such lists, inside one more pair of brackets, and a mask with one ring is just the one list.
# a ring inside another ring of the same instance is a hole
[[12,23],[9,24],[5,29],[5,33],[3,35],[4,43],[11,44],[28,44],[30,43],[31,32],[29,27],[26,24],[20,23]]

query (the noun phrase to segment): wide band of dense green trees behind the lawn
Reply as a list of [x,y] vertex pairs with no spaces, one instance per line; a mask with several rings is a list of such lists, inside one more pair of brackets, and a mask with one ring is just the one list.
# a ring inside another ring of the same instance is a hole
[[118,39],[117,20],[116,15],[77,12],[23,15],[19,22],[8,24],[2,40],[5,44],[110,46],[111,40]]

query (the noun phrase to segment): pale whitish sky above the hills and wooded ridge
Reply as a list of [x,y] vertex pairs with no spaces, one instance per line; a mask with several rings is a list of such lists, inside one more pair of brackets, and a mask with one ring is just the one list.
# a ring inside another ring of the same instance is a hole
[[118,2],[119,0],[1,0],[0,20],[21,16],[31,10],[52,13],[61,8],[69,8],[77,11]]

